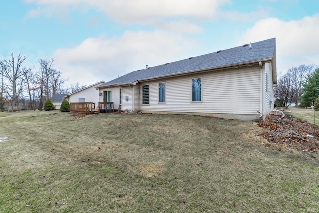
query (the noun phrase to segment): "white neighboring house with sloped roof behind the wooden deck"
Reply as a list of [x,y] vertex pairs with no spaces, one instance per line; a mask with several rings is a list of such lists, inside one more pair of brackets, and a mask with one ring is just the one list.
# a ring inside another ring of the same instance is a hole
[[67,94],[64,99],[66,99],[69,103],[93,102],[97,106],[99,102],[99,90],[97,90],[96,87],[104,83],[105,81],[100,81],[83,89],[79,89],[75,92]]

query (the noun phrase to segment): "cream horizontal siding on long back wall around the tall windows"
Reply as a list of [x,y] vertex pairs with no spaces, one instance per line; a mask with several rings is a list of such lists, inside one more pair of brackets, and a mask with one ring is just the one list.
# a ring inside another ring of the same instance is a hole
[[259,66],[207,72],[201,76],[201,104],[190,102],[189,82],[198,76],[182,76],[166,79],[165,107],[158,103],[157,97],[158,83],[161,81],[150,81],[149,105],[141,105],[141,111],[258,114],[260,109]]

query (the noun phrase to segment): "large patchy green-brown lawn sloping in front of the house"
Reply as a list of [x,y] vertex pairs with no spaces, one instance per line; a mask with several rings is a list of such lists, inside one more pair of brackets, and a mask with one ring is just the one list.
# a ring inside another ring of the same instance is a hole
[[319,209],[318,156],[264,147],[253,122],[0,113],[0,212]]

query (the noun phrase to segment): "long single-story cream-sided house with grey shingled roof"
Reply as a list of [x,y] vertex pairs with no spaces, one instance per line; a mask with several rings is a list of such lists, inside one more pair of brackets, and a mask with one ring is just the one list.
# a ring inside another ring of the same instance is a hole
[[97,86],[122,110],[255,120],[273,109],[275,38],[146,67]]

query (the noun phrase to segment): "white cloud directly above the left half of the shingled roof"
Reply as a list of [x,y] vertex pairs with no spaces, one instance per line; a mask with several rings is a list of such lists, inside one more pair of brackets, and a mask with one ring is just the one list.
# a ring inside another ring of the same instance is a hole
[[[88,38],[70,49],[59,49],[52,57],[55,67],[71,83],[93,84],[112,80],[131,71],[188,57],[194,40],[160,30],[127,31],[121,37]],[[187,54],[187,56],[186,56]]]

